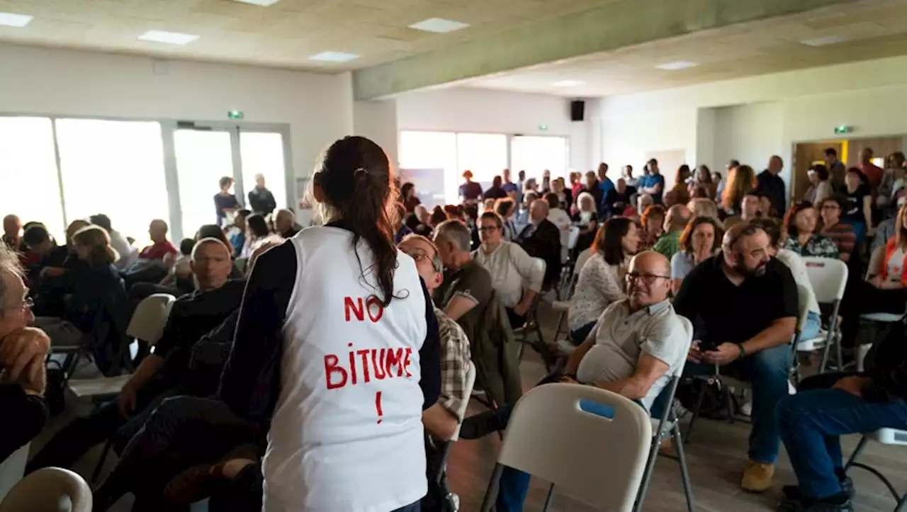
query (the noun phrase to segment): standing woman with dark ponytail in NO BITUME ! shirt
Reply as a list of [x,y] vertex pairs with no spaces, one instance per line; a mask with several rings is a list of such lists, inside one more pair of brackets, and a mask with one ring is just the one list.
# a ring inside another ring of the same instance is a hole
[[313,188],[326,224],[253,265],[220,398],[268,431],[264,510],[415,511],[440,348],[414,259],[394,246],[393,173],[375,142],[346,137]]

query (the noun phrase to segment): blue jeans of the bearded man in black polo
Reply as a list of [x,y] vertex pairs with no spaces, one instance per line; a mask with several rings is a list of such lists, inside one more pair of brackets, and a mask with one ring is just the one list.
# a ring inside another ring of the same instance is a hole
[[[762,464],[775,464],[781,440],[775,407],[788,395],[791,347],[776,346],[746,356],[721,369],[723,375],[740,377],[753,384],[753,429],[749,434],[749,459]],[[705,363],[688,362],[684,375],[708,375],[715,367]]]

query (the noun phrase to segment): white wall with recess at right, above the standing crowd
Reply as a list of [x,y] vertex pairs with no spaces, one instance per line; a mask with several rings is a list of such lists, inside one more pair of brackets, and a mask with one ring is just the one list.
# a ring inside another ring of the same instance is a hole
[[907,133],[905,97],[907,56],[610,96],[601,158],[638,164],[646,151],[683,149],[691,165],[723,170],[735,158],[758,171],[778,154],[789,184],[796,142],[838,139],[842,124],[851,138]]

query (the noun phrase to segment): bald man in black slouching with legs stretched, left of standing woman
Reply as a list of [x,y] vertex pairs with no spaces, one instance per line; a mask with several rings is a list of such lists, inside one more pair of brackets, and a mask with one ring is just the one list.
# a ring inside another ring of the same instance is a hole
[[230,251],[217,238],[199,240],[191,257],[199,288],[173,303],[154,353],[142,360],[116,399],[63,427],[32,459],[27,471],[71,468],[86,451],[105,440],[114,440],[119,453],[164,399],[217,390],[219,372],[209,378],[208,373],[190,371],[190,353],[239,309],[245,283],[229,279]]

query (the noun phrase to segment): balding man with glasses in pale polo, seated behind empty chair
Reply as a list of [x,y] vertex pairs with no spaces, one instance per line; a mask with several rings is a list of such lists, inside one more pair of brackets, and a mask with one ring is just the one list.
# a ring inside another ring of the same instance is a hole
[[[541,384],[560,381],[598,386],[647,410],[652,408],[671,375],[683,366],[689,347],[683,321],[668,300],[670,289],[668,258],[652,251],[634,256],[627,271],[627,298],[610,304],[586,341],[572,353],[563,373],[551,375]],[[460,438],[476,439],[503,430],[511,411],[512,405],[506,405],[463,420]],[[529,475],[505,468],[496,509],[522,510],[529,480]]]

